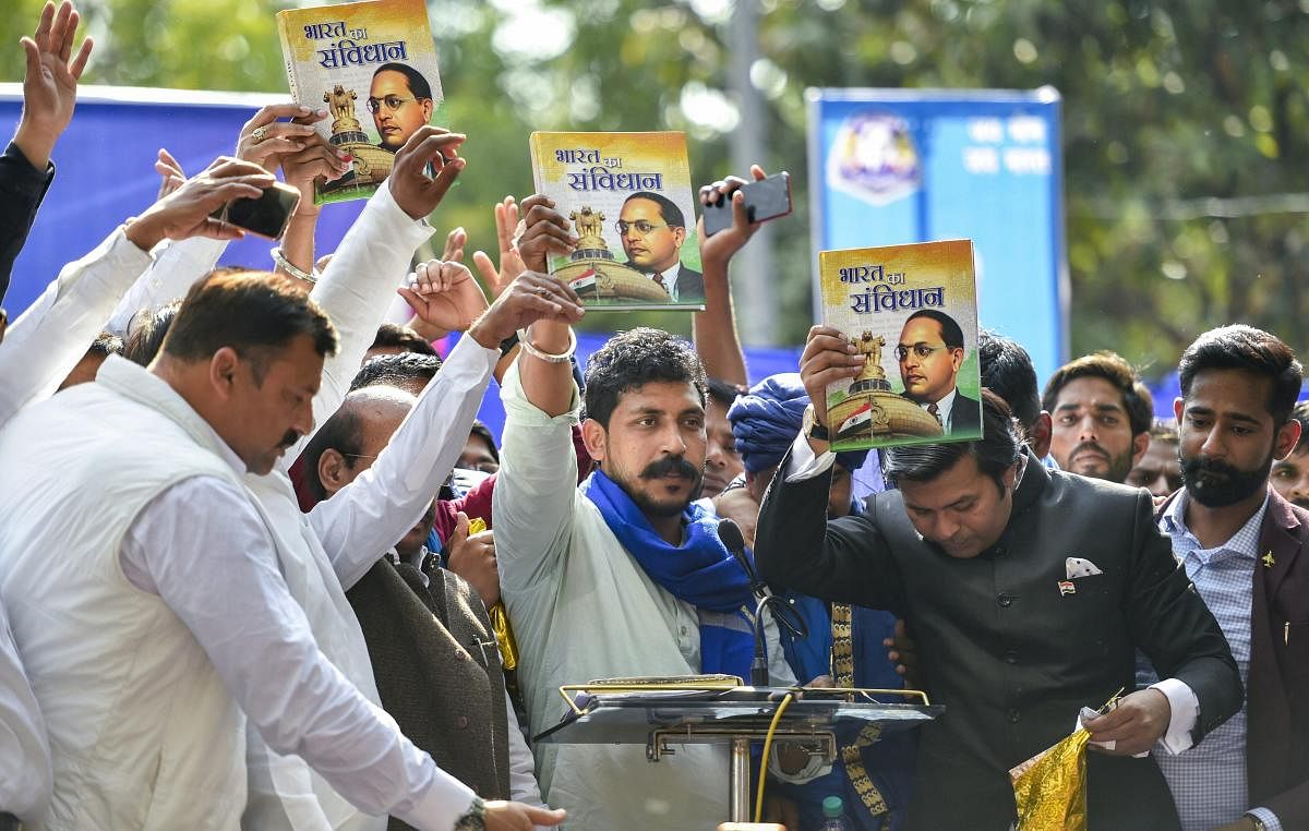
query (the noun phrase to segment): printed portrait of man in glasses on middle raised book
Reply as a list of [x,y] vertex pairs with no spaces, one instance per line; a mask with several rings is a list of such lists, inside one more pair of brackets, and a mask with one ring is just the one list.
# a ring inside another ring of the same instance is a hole
[[632,194],[618,215],[618,233],[628,264],[648,274],[674,302],[704,298],[704,275],[681,260],[686,217],[672,199],[651,191]]

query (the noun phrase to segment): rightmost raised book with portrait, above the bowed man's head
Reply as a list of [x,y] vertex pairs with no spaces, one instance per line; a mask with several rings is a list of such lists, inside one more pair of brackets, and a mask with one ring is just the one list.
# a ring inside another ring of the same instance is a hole
[[827,387],[833,450],[980,438],[973,243],[821,251],[818,274],[823,325],[864,359]]

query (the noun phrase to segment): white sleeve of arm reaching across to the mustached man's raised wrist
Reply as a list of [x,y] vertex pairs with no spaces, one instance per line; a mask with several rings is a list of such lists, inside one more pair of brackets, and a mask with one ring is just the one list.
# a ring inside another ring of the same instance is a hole
[[499,357],[499,349],[461,338],[373,466],[309,512],[343,589],[359,582],[436,499],[463,451]]

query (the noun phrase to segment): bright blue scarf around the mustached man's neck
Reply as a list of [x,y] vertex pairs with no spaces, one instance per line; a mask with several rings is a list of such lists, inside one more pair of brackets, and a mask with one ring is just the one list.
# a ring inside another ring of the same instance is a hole
[[[700,614],[700,671],[750,678],[754,660],[754,595],[741,564],[717,535],[713,513],[692,503],[682,513],[686,542],[670,546],[651,526],[636,503],[597,470],[581,483],[605,525],[645,575]],[[719,614],[713,614],[719,612]],[[736,618],[736,619],[733,619]],[[723,626],[730,622],[736,626]]]

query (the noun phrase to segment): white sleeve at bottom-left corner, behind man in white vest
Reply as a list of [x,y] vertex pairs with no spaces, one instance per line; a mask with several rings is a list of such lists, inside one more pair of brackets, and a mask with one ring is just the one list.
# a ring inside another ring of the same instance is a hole
[[52,787],[46,722],[0,610],[0,811],[35,822]]

